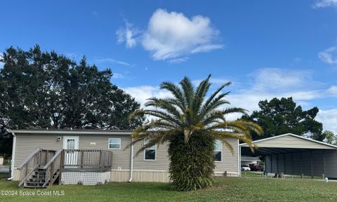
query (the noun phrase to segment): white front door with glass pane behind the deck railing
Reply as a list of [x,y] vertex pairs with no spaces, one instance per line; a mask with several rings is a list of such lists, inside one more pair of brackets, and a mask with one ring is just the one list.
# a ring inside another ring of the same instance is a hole
[[65,166],[77,166],[79,152],[76,149],[79,149],[79,136],[64,136],[63,149],[68,149],[65,152]]

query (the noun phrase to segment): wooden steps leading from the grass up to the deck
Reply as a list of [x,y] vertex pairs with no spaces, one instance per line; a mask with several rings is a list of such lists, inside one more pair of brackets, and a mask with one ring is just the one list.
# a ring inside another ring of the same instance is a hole
[[[53,183],[58,180],[60,170],[53,175]],[[37,168],[34,173],[23,184],[24,188],[37,189],[49,187],[50,180],[46,180],[46,170],[44,168]]]

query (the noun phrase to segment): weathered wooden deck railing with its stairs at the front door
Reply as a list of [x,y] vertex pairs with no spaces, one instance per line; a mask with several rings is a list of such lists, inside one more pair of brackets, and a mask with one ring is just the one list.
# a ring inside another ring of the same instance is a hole
[[106,172],[112,152],[102,149],[36,149],[19,166],[20,187],[45,188],[61,182],[62,172]]

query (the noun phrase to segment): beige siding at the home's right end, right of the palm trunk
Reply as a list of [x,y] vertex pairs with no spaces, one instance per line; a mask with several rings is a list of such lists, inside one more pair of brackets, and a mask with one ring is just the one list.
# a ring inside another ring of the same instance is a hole
[[223,145],[223,161],[216,162],[216,168],[214,170],[215,173],[238,173],[239,172],[239,165],[238,165],[238,147],[239,142],[237,139],[234,138],[227,138],[227,142],[229,142],[233,149],[234,153],[232,154],[225,145]]

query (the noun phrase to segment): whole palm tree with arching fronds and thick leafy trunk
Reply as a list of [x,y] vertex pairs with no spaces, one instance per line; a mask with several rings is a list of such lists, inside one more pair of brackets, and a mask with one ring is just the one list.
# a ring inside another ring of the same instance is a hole
[[187,77],[180,81],[180,86],[163,82],[160,88],[169,90],[173,96],[152,97],[145,103],[149,109],[139,109],[130,116],[130,119],[152,116],[150,121],[133,132],[131,144],[147,140],[137,154],[146,148],[169,142],[170,180],[178,191],[209,187],[213,183],[215,140],[222,141],[233,153],[232,145],[227,142],[228,137],[242,140],[253,149],[251,131],[262,133],[262,128],[256,123],[226,120],[228,114],[246,114],[246,110],[223,107],[230,104],[224,100],[229,92],[221,91],[230,82],[206,97],[211,86],[210,77],[201,81],[196,89]]

